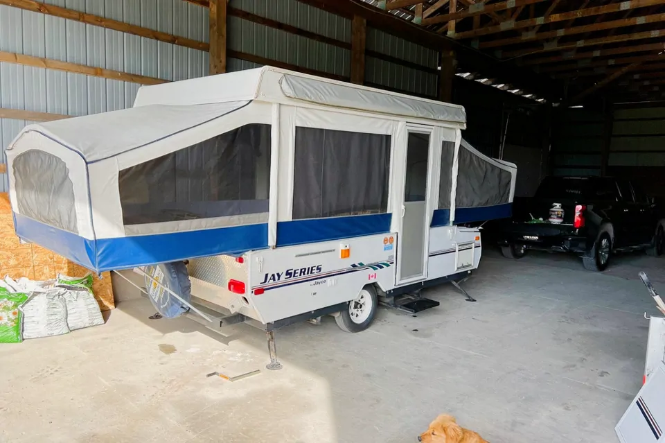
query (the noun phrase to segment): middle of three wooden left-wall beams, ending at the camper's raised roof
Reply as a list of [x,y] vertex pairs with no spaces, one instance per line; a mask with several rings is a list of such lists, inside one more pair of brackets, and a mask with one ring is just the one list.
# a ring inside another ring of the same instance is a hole
[[139,74],[96,68],[85,66],[84,64],[61,62],[60,60],[51,60],[48,58],[39,58],[33,57],[32,55],[22,55],[5,51],[0,51],[0,62],[23,64],[24,66],[32,66],[36,68],[55,69],[56,71],[82,73],[87,76],[110,78],[112,80],[122,80],[125,82],[139,83],[141,85],[159,85],[160,83],[168,82],[168,80],[162,80],[161,78],[139,76]]

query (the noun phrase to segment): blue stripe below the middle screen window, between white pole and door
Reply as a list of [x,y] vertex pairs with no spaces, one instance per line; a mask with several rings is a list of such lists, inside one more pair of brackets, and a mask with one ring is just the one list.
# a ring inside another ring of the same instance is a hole
[[391,214],[310,218],[277,223],[277,245],[290,246],[390,232]]

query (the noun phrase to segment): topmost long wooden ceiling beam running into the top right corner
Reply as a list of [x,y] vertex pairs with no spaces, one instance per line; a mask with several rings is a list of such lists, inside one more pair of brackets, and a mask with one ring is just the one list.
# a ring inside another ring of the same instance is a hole
[[[594,6],[594,8],[585,8],[570,12],[560,12],[559,14],[551,14],[547,17],[543,16],[543,17],[536,17],[535,19],[515,21],[515,23],[511,24],[511,26],[509,27],[506,24],[497,25],[497,26],[486,26],[485,28],[477,29],[475,31],[467,31],[459,33],[455,35],[455,38],[462,39],[462,38],[481,37],[482,35],[501,33],[504,31],[510,31],[520,28],[529,28],[531,26],[556,23],[558,21],[567,21],[570,19],[578,19],[581,17],[592,17],[594,15],[608,14],[611,12],[621,12],[627,9],[630,10],[635,8],[641,8],[644,6],[664,5],[664,4],[665,0],[631,0],[630,3],[628,2],[610,3],[605,6]],[[439,17],[445,17],[445,16],[439,15],[434,18],[438,19]],[[429,20],[430,19],[423,20],[423,24],[426,24],[425,22]]]

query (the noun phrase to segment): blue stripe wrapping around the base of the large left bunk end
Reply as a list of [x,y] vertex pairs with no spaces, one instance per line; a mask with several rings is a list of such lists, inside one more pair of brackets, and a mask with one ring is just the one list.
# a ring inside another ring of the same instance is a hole
[[16,233],[96,272],[135,268],[267,247],[268,225],[220,227],[97,241],[14,214]]

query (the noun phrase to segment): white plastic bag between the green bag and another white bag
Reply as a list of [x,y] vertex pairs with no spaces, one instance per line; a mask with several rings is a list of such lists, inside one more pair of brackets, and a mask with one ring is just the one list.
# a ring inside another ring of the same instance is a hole
[[23,312],[23,338],[59,336],[69,332],[64,290],[30,293],[19,309]]

